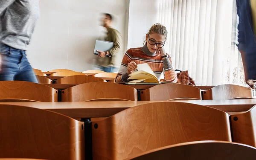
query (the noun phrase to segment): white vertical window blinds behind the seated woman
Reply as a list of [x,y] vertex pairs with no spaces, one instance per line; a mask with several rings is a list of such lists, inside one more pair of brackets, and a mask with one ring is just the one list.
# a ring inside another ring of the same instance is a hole
[[244,85],[236,0],[157,0],[156,5],[175,69],[189,70],[197,85]]

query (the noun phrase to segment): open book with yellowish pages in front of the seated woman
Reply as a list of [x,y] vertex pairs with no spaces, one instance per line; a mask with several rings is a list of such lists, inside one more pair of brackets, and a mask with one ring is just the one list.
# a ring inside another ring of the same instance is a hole
[[160,82],[160,79],[157,79],[157,76],[151,70],[147,63],[138,64],[137,71],[129,74],[129,80],[134,79],[132,81],[126,82],[126,84],[161,84],[161,83],[169,83],[166,81]]

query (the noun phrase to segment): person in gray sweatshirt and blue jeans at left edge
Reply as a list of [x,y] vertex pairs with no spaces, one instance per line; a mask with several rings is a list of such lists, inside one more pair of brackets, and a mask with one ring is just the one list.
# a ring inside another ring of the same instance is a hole
[[0,0],[0,81],[38,82],[26,50],[39,18],[39,0]]

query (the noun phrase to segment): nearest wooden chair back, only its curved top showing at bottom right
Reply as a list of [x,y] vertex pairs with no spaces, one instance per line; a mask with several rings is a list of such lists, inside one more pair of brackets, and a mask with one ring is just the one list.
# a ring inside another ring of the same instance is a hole
[[255,160],[256,148],[225,141],[197,141],[157,148],[127,160]]

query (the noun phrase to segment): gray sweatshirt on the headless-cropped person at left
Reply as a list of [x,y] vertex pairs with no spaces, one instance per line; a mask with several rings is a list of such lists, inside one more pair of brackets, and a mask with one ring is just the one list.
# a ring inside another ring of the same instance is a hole
[[27,50],[38,18],[39,0],[0,0],[0,43]]

